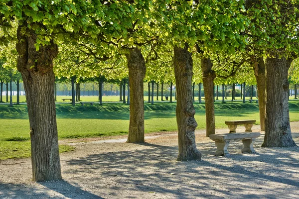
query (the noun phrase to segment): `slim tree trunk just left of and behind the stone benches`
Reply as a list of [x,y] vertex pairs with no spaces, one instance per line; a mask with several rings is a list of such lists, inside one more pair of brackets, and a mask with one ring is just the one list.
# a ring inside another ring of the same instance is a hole
[[214,112],[214,79],[215,71],[212,70],[213,64],[210,58],[201,59],[202,82],[205,99],[206,112],[206,136],[215,134],[215,112]]

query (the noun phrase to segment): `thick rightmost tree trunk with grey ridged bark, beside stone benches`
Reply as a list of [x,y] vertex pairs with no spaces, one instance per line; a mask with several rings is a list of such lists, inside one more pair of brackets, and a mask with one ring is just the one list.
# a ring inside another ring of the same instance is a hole
[[288,71],[292,59],[266,59],[266,117],[262,147],[296,146],[291,133]]

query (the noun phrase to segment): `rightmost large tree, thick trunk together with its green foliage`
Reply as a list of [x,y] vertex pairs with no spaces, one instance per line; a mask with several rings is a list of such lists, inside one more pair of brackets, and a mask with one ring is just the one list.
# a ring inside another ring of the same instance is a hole
[[259,57],[266,57],[266,116],[262,147],[296,146],[290,127],[288,70],[299,51],[298,2],[247,0],[246,7],[251,19],[252,43],[262,54]]

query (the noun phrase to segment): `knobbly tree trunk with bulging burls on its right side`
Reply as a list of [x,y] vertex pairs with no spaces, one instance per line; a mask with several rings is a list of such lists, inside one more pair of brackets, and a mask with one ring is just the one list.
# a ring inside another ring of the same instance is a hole
[[200,160],[201,153],[196,148],[194,119],[195,109],[192,102],[193,61],[188,47],[174,47],[174,74],[176,82],[176,123],[178,129],[177,161]]

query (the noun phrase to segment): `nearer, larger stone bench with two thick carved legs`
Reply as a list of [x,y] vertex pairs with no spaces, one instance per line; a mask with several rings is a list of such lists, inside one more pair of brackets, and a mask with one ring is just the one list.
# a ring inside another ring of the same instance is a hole
[[243,149],[242,153],[255,153],[253,145],[257,137],[261,133],[251,132],[251,133],[225,133],[225,134],[216,134],[210,135],[210,139],[215,141],[217,151],[215,156],[227,156],[229,155],[227,148],[229,146],[230,140],[242,140]]

